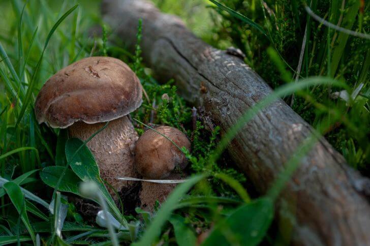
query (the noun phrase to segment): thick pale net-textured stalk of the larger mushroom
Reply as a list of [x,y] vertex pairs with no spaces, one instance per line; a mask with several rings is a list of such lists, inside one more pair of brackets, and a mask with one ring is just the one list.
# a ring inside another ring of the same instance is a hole
[[[69,127],[70,137],[80,138],[83,141],[101,129],[105,123],[86,124],[75,122]],[[127,116],[112,120],[108,126],[87,143],[97,160],[101,177],[119,192],[122,188],[132,185],[132,181],[121,181],[116,177],[136,177],[134,157],[132,151],[138,139],[130,119]],[[107,186],[109,193],[114,192]]]

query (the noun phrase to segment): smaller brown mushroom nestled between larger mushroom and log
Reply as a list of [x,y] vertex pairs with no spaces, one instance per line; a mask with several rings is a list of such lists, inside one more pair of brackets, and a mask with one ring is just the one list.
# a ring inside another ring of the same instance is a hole
[[[171,139],[178,147],[191,150],[189,139],[180,130],[168,126],[157,127],[155,130]],[[181,179],[177,172],[186,168],[187,158],[171,141],[156,131],[146,131],[137,141],[136,170],[145,179]],[[175,186],[173,183],[143,181],[139,194],[142,208],[152,210],[156,200],[163,202]]]

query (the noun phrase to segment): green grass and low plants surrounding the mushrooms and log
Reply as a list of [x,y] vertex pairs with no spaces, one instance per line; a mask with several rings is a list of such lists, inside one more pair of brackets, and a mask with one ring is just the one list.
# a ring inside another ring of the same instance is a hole
[[[0,21],[4,91],[0,95],[0,244],[186,245],[209,233],[203,244],[256,245],[266,237],[274,200],[320,134],[350,165],[369,175],[369,41],[366,35],[349,35],[318,22],[307,14],[306,3],[154,1],[162,10],[184,18],[214,46],[240,48],[245,62],[275,89],[220,138],[218,127],[209,132],[200,121],[193,126],[191,106],[176,94],[173,81],[159,84],[150,76],[141,59],[141,23],[136,51],[130,53],[109,42],[109,27],[97,14],[98,1],[31,2],[35,1],[0,2],[0,8],[7,10],[1,12],[6,23]],[[330,23],[368,33],[369,5],[363,11],[355,1],[312,1],[309,6]],[[103,29],[101,36],[88,34],[93,26]],[[43,83],[73,61],[97,55],[124,60],[140,78],[147,97],[132,113],[139,134],[147,124],[164,124],[192,140],[191,153],[182,149],[192,176],[155,214],[139,208],[134,214],[120,210],[103,185],[87,141],[68,139],[66,131],[38,125],[35,119],[33,105]],[[351,95],[346,100],[345,92]],[[297,147],[265,197],[251,197],[245,189],[248,180],[224,150],[242,126],[276,98],[284,98],[317,133]],[[97,184],[95,190],[81,191],[79,184],[89,181]],[[72,196],[101,204],[112,217],[100,220],[116,223],[120,230],[113,233],[111,227],[82,217],[69,199]],[[272,240],[267,237],[266,243]]]

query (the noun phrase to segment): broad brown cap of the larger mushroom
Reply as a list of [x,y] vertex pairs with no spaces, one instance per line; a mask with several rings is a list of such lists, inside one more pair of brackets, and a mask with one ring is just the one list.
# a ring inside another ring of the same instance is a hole
[[142,103],[142,87],[123,61],[87,57],[61,69],[41,88],[36,118],[53,128],[95,124],[129,114]]

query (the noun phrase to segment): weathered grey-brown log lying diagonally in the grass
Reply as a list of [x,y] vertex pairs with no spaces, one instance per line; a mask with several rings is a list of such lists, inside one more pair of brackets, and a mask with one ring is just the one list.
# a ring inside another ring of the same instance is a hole
[[[203,109],[203,119],[223,133],[271,88],[237,56],[196,38],[177,17],[142,0],[105,0],[105,21],[129,48],[143,19],[143,57],[157,78],[176,80],[179,93]],[[284,101],[258,113],[230,143],[235,163],[261,193],[282,171],[312,127]],[[277,206],[278,224],[296,244],[370,245],[368,180],[321,139],[303,158]],[[368,192],[368,187],[367,187]],[[283,227],[282,227],[283,228]]]

